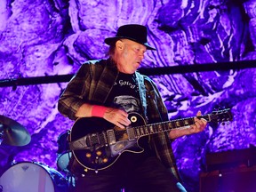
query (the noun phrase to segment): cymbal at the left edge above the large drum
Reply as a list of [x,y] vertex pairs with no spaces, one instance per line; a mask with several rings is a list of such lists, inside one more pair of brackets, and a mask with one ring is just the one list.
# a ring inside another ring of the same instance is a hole
[[30,142],[31,137],[21,124],[9,117],[0,116],[0,140],[5,145],[25,146]]

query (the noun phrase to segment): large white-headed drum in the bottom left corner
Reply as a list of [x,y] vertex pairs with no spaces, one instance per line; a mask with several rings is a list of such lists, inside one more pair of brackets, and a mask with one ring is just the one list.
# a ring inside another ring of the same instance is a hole
[[44,164],[20,162],[2,174],[0,187],[4,192],[66,192],[68,181]]

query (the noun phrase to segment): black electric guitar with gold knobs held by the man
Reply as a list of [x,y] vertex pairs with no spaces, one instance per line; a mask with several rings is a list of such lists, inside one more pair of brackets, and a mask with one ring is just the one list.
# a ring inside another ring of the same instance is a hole
[[[146,124],[138,113],[131,113],[128,118],[132,124],[122,130],[99,117],[83,117],[76,120],[70,131],[69,147],[72,155],[85,170],[98,172],[106,169],[114,164],[124,151],[142,153],[144,149],[140,148],[138,141],[143,136],[195,124],[194,117],[157,124]],[[214,111],[199,118],[217,124],[232,120],[230,109]]]

